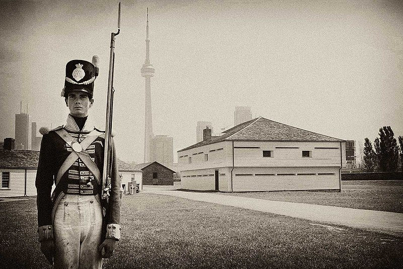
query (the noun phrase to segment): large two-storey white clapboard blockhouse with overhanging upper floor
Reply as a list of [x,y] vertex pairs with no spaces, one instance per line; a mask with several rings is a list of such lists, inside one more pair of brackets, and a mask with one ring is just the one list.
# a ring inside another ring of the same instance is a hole
[[263,117],[178,151],[183,189],[341,190],[345,141]]

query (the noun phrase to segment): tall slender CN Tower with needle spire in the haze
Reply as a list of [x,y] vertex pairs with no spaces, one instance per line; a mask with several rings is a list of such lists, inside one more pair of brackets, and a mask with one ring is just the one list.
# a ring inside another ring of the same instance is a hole
[[144,162],[151,160],[151,143],[153,134],[153,118],[151,113],[151,77],[154,77],[155,69],[150,63],[150,38],[148,35],[148,8],[147,8],[147,35],[146,35],[146,60],[141,69],[142,77],[146,78],[146,114],[144,127]]

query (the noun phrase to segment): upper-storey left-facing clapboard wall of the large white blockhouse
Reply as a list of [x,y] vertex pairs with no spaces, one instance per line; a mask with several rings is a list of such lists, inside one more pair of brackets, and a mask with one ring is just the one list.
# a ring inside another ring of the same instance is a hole
[[[208,161],[205,161],[205,154],[209,155]],[[189,157],[192,158],[191,163],[189,163]],[[232,142],[229,141],[178,152],[179,171],[224,166],[232,166]]]

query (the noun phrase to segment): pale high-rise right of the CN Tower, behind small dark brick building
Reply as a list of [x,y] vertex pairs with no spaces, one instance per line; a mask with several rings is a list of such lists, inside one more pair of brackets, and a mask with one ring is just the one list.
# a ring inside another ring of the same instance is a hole
[[173,138],[157,135],[152,140],[151,161],[172,169],[173,167]]

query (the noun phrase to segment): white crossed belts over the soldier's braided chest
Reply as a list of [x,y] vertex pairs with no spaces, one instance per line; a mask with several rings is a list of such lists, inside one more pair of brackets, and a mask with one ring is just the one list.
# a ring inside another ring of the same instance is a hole
[[[59,130],[55,131],[61,139],[63,139],[67,144],[70,146],[72,143],[78,143],[75,138],[73,138],[70,133],[68,133],[65,129],[61,128]],[[96,134],[95,134],[96,133]],[[85,152],[85,150],[90,146],[98,137],[102,136],[102,134],[99,134],[100,132],[97,130],[93,130],[88,134],[88,136],[80,143],[80,146],[82,147],[81,152],[75,152],[73,151],[61,164],[59,171],[57,172],[56,176],[56,186],[59,183],[61,177],[64,175],[64,173],[69,170],[69,168],[74,164],[75,161],[77,161],[78,158],[80,158],[83,163],[88,167],[88,169],[91,171],[91,173],[94,175],[95,179],[97,180],[98,184],[100,184],[100,178],[101,178],[101,172],[99,171],[97,165],[94,163],[94,161],[91,159],[90,155]]]

